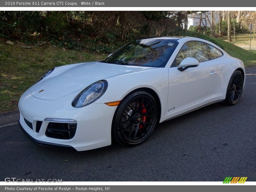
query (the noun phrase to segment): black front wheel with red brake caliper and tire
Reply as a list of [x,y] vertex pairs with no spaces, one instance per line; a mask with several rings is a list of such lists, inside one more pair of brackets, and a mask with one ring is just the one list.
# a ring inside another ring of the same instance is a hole
[[157,122],[156,101],[148,92],[134,92],[122,100],[112,123],[112,139],[135,146],[144,142]]

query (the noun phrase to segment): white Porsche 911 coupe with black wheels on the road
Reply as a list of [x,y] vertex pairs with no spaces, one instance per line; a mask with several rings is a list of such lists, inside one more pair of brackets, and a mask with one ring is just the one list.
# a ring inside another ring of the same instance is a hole
[[163,122],[236,104],[244,64],[194,37],[134,40],[106,60],[56,67],[20,98],[20,127],[39,145],[77,151],[137,145]]

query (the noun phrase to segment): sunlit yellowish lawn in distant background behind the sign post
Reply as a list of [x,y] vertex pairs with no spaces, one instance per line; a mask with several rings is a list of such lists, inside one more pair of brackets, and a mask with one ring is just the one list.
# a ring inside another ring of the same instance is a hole
[[[236,40],[234,39],[234,34],[231,35],[232,38],[232,44],[240,46],[240,47],[250,47],[250,34],[237,34]],[[228,41],[227,36],[219,37],[219,39]],[[252,31],[252,41],[251,41],[251,47],[256,47],[256,34],[254,36],[253,40],[253,31]]]

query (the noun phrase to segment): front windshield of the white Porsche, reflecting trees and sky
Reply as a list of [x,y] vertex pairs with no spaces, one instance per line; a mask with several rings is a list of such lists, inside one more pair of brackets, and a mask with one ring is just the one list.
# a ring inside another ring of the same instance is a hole
[[165,67],[177,45],[178,42],[175,39],[134,40],[118,49],[102,62],[120,65]]

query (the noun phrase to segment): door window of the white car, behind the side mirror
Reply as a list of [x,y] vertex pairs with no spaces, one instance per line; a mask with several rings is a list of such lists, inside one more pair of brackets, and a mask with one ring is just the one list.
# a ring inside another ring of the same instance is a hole
[[198,41],[190,41],[184,44],[176,57],[176,66],[179,66],[181,61],[187,57],[193,57],[199,62],[209,60],[206,44]]

